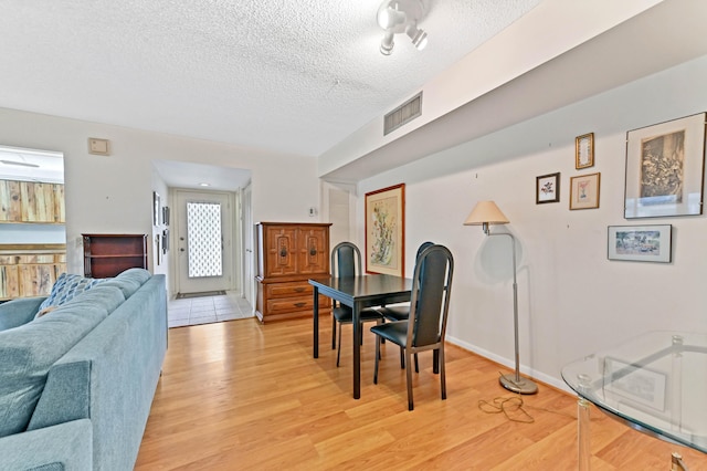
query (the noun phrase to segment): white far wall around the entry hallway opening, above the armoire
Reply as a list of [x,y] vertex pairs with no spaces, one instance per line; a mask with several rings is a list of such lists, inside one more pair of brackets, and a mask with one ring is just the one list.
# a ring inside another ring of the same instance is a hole
[[[88,137],[109,139],[112,155],[89,155]],[[82,233],[152,234],[152,191],[155,186],[163,188],[154,180],[155,159],[251,169],[254,221],[306,222],[312,220],[308,208],[319,206],[313,157],[7,108],[0,108],[0,144],[64,153],[67,270],[72,273],[83,273]],[[149,260],[154,260],[151,250]]]

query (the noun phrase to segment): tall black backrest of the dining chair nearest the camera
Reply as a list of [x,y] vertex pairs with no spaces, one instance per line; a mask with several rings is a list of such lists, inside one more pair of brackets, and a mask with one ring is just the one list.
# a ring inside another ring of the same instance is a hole
[[444,342],[453,272],[454,258],[444,245],[430,245],[418,257],[412,278],[408,346]]

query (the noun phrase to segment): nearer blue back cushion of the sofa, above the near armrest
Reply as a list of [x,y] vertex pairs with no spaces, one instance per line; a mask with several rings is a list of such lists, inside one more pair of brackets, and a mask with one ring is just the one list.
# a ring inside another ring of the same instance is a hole
[[66,303],[0,332],[0,437],[27,429],[50,367],[107,315],[98,304]]

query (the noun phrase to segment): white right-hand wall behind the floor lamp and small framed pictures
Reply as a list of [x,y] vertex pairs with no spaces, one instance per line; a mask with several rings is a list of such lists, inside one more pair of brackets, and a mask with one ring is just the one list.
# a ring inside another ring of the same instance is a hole
[[[365,180],[405,182],[405,271],[425,240],[455,258],[449,339],[513,365],[508,238],[462,226],[493,199],[518,240],[521,370],[564,388],[561,367],[645,331],[707,332],[706,216],[623,218],[626,130],[707,111],[707,56]],[[541,93],[541,91],[529,91]],[[513,106],[513,103],[508,103]],[[595,165],[574,169],[574,137],[594,133]],[[560,202],[535,203],[536,177],[561,172]],[[601,172],[600,208],[569,210],[570,177]],[[606,260],[606,227],[673,224],[671,264]]]

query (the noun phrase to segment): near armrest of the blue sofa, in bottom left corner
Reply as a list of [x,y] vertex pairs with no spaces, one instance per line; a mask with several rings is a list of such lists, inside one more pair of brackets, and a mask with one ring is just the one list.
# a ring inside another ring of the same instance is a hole
[[18,471],[92,470],[91,420],[74,420],[0,438],[0,468]]

